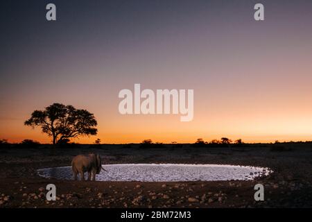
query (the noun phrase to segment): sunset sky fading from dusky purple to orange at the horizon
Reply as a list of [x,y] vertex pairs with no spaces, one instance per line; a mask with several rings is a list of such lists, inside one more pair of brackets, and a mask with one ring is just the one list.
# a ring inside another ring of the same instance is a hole
[[[98,121],[79,143],[311,140],[311,12],[310,0],[1,1],[0,139],[51,142],[24,121],[63,103]],[[135,83],[193,89],[193,121],[120,114]]]

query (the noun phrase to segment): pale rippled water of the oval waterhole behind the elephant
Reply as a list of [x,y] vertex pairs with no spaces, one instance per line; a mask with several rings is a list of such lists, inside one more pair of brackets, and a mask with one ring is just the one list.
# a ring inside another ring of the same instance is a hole
[[[220,164],[109,164],[96,175],[101,181],[214,181],[253,180],[268,175],[263,167],[245,167]],[[72,180],[71,167],[54,167],[37,170],[39,176]],[[85,175],[86,177],[87,175]]]

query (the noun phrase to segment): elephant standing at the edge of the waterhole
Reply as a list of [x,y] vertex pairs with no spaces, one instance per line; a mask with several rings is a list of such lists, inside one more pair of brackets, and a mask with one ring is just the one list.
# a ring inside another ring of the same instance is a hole
[[[98,154],[90,153],[89,155],[76,155],[71,161],[71,169],[73,170],[73,178],[77,180],[77,174],[80,174],[81,180],[85,180],[85,172],[88,172],[88,180],[96,180],[96,174],[103,169],[101,157]],[[105,169],[103,169],[106,171]]]

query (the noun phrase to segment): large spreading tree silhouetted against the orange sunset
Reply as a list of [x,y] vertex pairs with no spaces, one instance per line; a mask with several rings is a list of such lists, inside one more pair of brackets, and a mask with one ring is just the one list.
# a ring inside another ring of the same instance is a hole
[[87,110],[77,110],[72,105],[53,103],[45,110],[35,110],[24,125],[40,126],[42,133],[53,138],[53,145],[62,139],[96,135],[97,121]]

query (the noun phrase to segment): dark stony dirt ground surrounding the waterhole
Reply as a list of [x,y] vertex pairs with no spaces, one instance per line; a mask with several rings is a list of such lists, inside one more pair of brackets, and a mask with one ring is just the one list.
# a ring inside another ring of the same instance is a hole
[[[312,144],[254,144],[246,148],[166,145],[77,145],[71,148],[1,148],[0,207],[311,207]],[[272,151],[273,150],[273,151]],[[45,179],[36,169],[69,166],[73,156],[99,153],[103,164],[184,163],[269,167],[270,176],[223,182],[89,182]],[[45,187],[57,187],[47,201]],[[264,201],[254,185],[264,185]]]

